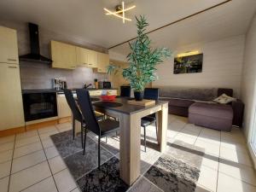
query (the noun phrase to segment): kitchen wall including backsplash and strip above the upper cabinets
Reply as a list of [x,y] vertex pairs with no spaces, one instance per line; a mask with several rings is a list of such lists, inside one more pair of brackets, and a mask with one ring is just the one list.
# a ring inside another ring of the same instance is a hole
[[[17,30],[19,55],[30,52],[28,26],[25,22],[0,20],[0,26],[7,26]],[[79,45],[87,49],[108,52],[100,46],[89,44],[78,37],[67,37],[59,32],[52,32],[39,26],[41,54],[49,56],[50,40],[61,41],[68,44]],[[106,79],[106,74],[93,73],[92,69],[78,67],[75,70],[54,69],[47,64],[20,61],[20,79],[22,89],[50,89],[51,79],[67,79],[69,88],[80,88],[83,84],[93,83],[94,79]]]

